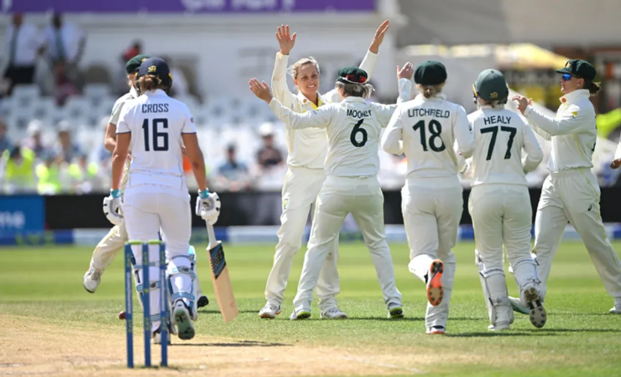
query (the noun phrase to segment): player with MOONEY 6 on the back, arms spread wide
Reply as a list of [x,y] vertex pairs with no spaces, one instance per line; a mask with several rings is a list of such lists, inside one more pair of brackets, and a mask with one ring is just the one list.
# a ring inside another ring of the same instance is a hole
[[[409,100],[412,71],[410,63],[402,70],[397,67],[401,102]],[[253,93],[266,101],[288,128],[323,128],[328,138],[327,177],[317,199],[292,320],[311,316],[312,290],[331,245],[338,240],[345,216],[350,212],[371,253],[389,317],[403,316],[401,293],[395,284],[392,256],[384,234],[384,197],[377,179],[379,135],[397,105],[366,103],[373,91],[367,78],[367,73],[360,68],[342,68],[335,88],[343,100],[304,114],[281,105],[265,82],[261,85],[255,78],[250,80]]]

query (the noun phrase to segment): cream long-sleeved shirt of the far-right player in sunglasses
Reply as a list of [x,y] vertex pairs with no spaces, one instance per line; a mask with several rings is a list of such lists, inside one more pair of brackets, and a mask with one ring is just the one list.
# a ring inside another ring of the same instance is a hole
[[533,131],[552,142],[548,159],[551,172],[593,167],[591,157],[595,151],[597,128],[595,109],[589,96],[586,89],[562,96],[555,118],[549,118],[533,106],[524,111]]

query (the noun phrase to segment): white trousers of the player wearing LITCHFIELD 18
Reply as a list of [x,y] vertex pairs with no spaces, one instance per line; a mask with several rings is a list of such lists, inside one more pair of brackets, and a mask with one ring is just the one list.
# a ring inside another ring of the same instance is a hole
[[427,302],[425,326],[446,328],[453,280],[455,254],[451,251],[457,242],[457,230],[463,212],[463,187],[455,177],[408,179],[401,190],[401,210],[410,246],[408,268],[414,276],[427,284],[433,259],[444,264],[442,303],[433,306]]

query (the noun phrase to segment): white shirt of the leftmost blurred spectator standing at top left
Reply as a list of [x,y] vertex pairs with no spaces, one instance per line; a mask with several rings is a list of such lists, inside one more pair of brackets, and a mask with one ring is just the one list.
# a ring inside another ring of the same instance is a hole
[[[11,41],[13,34],[16,32],[14,25],[6,28],[6,44],[4,45],[5,64],[9,63],[11,57]],[[17,45],[15,49],[15,57],[13,64],[16,66],[35,65],[37,59],[37,50],[43,45],[43,35],[36,26],[28,22],[24,22],[17,31]]]

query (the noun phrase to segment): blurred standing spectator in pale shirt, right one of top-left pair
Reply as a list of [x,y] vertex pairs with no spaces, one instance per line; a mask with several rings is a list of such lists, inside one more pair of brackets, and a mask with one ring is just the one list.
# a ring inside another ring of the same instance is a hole
[[82,30],[71,22],[63,21],[60,13],[55,13],[52,23],[45,28],[44,33],[48,58],[54,71],[57,71],[57,63],[62,62],[62,70],[66,78],[80,86],[81,77],[78,65],[84,53],[84,45],[86,45],[86,37]]

